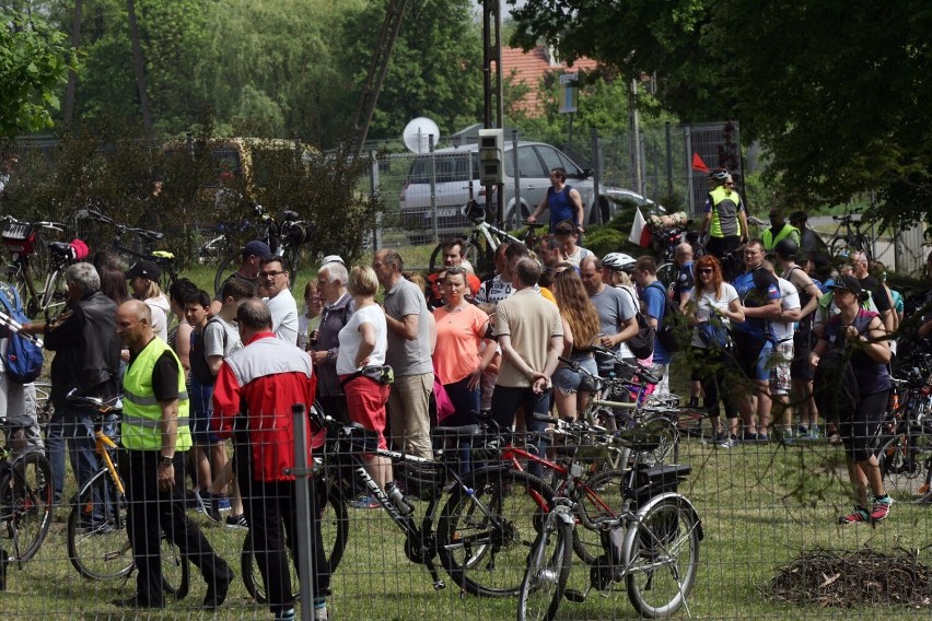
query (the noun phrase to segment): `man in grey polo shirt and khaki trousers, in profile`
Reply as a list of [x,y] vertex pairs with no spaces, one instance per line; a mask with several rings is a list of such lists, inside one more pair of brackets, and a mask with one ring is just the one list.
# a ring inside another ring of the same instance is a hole
[[401,276],[401,256],[385,248],[375,253],[372,269],[385,289],[385,320],[388,350],[385,364],[395,370],[388,395],[388,426],[392,442],[405,453],[430,459],[429,399],[433,389],[430,321],[424,295]]

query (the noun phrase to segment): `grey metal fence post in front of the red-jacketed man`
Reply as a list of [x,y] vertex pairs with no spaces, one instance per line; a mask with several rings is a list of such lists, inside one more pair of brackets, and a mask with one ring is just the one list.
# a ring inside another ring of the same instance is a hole
[[311,469],[307,467],[307,415],[304,403],[291,407],[294,417],[294,468],[286,473],[294,476],[295,501],[298,502],[298,581],[301,585],[301,619],[314,619],[314,575],[311,571],[311,494],[307,480]]

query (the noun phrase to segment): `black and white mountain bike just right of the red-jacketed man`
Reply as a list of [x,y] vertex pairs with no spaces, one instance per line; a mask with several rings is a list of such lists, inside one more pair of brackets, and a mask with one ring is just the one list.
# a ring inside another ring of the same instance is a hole
[[[517,594],[527,552],[552,494],[540,479],[504,466],[461,476],[455,449],[438,452],[436,460],[424,459],[378,448],[376,432],[359,424],[345,425],[327,417],[317,405],[311,408],[311,418],[327,433],[321,479],[328,506],[343,507],[335,509],[338,516],[346,515],[342,512],[353,497],[356,481],[401,531],[405,555],[412,563],[424,565],[434,590],[446,587],[434,564],[439,556],[450,577],[466,593],[487,597]],[[438,443],[478,438],[481,433],[479,425],[431,430]],[[423,516],[417,516],[415,504],[394,484],[383,490],[369,476],[363,455],[371,454],[389,458],[408,490],[420,492],[427,502]],[[326,542],[331,570],[349,539],[349,522],[338,519],[334,540]],[[256,597],[255,586],[260,581],[256,577],[255,559],[245,547],[242,570],[247,590]]]

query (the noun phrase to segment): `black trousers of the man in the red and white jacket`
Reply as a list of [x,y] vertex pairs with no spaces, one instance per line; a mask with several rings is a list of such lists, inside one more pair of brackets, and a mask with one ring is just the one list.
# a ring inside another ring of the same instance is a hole
[[[246,458],[241,458],[242,456]],[[288,551],[298,566],[298,499],[294,481],[256,481],[253,478],[252,456],[248,446],[237,444],[233,457],[236,481],[243,495],[243,512],[253,539],[253,554],[266,585],[269,610],[273,613],[294,606]],[[321,516],[326,500],[321,497],[314,479],[307,481],[311,497],[311,574],[314,576],[314,596],[330,593],[330,570],[324,551]]]

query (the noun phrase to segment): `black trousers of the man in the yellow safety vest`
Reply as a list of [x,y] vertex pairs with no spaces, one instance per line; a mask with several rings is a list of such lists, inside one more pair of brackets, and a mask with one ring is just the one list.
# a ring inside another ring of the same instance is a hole
[[121,450],[119,471],[126,487],[127,530],[136,559],[136,594],[140,601],[162,606],[162,531],[198,570],[208,585],[229,581],[233,572],[217,555],[197,524],[185,513],[185,453],[175,453],[175,487],[159,490],[158,450]]

